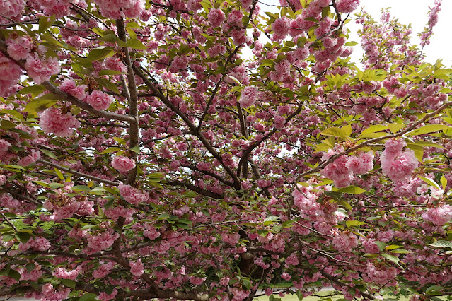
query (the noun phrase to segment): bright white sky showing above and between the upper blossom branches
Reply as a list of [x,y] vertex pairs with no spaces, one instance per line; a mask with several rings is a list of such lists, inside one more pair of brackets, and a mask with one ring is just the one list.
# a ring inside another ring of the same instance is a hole
[[[279,5],[278,0],[264,0],[265,4]],[[419,45],[420,33],[427,24],[429,6],[433,6],[434,0],[361,0],[361,7],[364,6],[368,13],[371,13],[375,20],[380,19],[381,8],[390,7],[390,14],[394,18],[398,18],[400,23],[411,24],[412,44]],[[273,11],[275,9],[261,4],[261,11]],[[356,12],[360,11],[358,8]],[[439,22],[434,27],[434,34],[430,37],[430,44],[424,47],[424,54],[429,63],[434,63],[436,59],[442,59],[443,64],[447,67],[452,66],[452,0],[443,0],[441,4],[441,11],[439,12]],[[361,42],[356,34],[358,25],[354,21],[347,24],[351,30],[349,41]],[[352,54],[353,61],[359,61],[362,57],[362,50],[359,45],[353,47]],[[251,57],[250,50],[245,50],[245,57]]]

